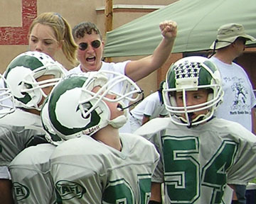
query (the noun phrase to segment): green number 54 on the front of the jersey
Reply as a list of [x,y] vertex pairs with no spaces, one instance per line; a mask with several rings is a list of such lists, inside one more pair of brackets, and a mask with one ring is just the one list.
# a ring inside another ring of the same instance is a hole
[[[164,180],[171,203],[194,203],[201,185],[213,189],[211,203],[221,203],[237,149],[237,143],[224,140],[215,152],[200,152],[198,137],[163,137]],[[201,170],[204,153],[212,156]]]

